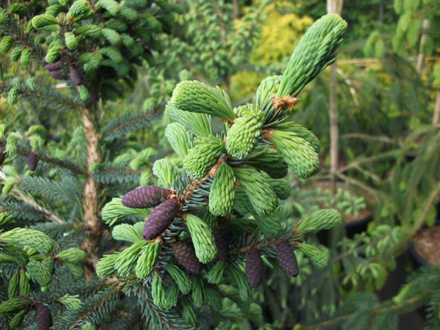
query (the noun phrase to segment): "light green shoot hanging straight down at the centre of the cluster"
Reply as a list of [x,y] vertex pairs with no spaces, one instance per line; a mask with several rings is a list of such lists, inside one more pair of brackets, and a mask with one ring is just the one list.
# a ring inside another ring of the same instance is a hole
[[224,217],[231,212],[232,206],[234,205],[234,198],[234,171],[224,162],[217,169],[214,182],[210,188],[210,212],[213,215]]

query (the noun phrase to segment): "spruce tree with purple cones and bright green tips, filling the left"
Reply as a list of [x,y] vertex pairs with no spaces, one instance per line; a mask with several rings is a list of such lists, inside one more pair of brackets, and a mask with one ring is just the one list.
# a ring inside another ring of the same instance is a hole
[[338,212],[318,211],[293,228],[276,219],[289,195],[287,168],[301,178],[318,168],[318,140],[292,122],[292,107],[334,61],[347,24],[332,14],[318,20],[281,78],[263,80],[243,107],[219,87],[180,83],[166,105],[177,157],[150,170],[146,148],[122,167],[112,155],[118,139],[156,113],[104,123],[104,110],[133,86],[136,65],[151,60],[155,35],[169,30],[177,10],[162,0],[2,8],[0,50],[67,86],[61,93],[16,78],[0,84],[3,95],[72,111],[83,123],[69,148],[55,152],[41,126],[0,126],[2,329],[229,327],[259,314],[252,295],[267,265],[296,276],[298,253],[327,265],[327,252],[306,234],[338,225]]

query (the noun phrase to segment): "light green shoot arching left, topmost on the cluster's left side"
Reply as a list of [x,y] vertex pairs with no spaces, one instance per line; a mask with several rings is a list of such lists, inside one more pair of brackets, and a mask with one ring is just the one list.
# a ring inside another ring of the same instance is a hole
[[170,103],[183,111],[206,113],[224,120],[235,118],[228,95],[219,87],[210,87],[197,80],[177,84]]

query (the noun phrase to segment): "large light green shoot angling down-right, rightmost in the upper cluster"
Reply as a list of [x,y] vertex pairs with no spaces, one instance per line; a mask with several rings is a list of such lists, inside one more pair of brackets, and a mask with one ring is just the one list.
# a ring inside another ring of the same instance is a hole
[[300,179],[307,179],[318,169],[318,153],[295,133],[274,130],[271,140],[294,175]]

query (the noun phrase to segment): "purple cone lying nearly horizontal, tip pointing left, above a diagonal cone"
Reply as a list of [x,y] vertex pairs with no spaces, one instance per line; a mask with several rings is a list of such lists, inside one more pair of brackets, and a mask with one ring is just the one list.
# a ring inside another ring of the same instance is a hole
[[122,205],[127,208],[152,208],[170,193],[171,190],[169,189],[153,185],[139,187],[127,192],[122,197]]

